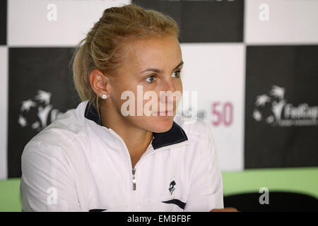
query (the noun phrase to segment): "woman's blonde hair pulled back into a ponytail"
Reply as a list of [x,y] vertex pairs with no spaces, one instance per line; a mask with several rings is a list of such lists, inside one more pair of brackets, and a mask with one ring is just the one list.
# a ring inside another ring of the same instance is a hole
[[81,101],[89,99],[100,116],[100,97],[90,86],[90,71],[98,69],[104,74],[115,75],[122,62],[124,41],[155,35],[174,35],[179,39],[176,21],[163,13],[134,4],[106,8],[100,20],[76,45],[71,59],[73,81]]

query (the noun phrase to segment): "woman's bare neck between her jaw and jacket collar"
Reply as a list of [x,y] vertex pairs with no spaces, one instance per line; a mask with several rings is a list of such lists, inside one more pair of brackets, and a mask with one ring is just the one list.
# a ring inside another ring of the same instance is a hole
[[115,131],[126,144],[130,155],[142,155],[153,139],[153,133],[129,123],[116,109],[106,104],[100,107],[102,125]]

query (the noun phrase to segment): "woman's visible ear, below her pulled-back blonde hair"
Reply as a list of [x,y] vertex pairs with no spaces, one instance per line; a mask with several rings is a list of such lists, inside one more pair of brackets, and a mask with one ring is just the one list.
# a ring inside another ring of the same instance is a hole
[[110,96],[107,87],[110,85],[110,79],[107,78],[101,71],[94,69],[90,71],[90,86],[93,88],[96,95],[102,97],[102,95]]

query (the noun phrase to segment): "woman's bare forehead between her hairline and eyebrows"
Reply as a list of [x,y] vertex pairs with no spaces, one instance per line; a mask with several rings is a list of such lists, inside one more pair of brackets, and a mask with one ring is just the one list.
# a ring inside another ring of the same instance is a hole
[[139,72],[149,66],[170,69],[182,60],[179,42],[173,36],[130,41],[125,44],[123,54],[123,66]]

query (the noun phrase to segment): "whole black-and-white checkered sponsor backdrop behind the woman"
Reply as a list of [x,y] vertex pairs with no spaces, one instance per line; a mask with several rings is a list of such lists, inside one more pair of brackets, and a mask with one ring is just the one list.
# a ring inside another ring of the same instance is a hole
[[[134,3],[177,20],[185,117],[213,127],[221,170],[318,166],[318,1],[0,2],[0,179],[20,177],[30,139],[80,102],[72,48],[105,8]],[[193,97],[193,95],[192,95]]]

